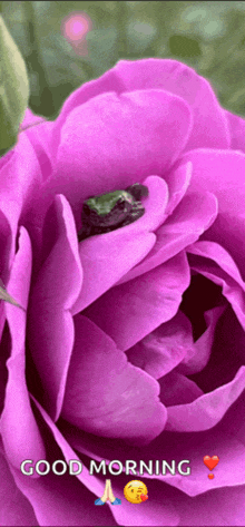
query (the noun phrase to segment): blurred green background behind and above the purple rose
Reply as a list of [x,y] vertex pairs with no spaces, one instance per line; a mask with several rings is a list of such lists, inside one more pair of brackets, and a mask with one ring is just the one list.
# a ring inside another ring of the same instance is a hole
[[[244,1],[2,1],[6,25],[28,68],[30,108],[55,118],[67,96],[120,58],[174,58],[212,81],[220,104],[245,116]],[[86,13],[87,55],[61,31]]]

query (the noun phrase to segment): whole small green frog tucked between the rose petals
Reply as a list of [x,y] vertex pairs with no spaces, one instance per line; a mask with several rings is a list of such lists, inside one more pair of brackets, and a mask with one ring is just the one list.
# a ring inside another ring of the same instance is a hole
[[81,212],[82,227],[78,240],[104,234],[124,227],[144,215],[141,198],[148,196],[148,188],[140,183],[125,191],[115,191],[85,201]]

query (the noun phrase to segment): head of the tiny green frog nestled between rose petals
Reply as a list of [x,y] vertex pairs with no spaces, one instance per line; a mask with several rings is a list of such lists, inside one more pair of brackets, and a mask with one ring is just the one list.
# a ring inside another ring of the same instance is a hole
[[130,213],[134,197],[126,191],[115,191],[90,197],[84,203],[82,215],[94,226],[119,225]]

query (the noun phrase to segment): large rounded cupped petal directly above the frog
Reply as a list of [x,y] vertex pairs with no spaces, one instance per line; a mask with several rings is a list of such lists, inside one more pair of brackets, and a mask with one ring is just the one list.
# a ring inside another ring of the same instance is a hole
[[161,176],[185,148],[190,127],[188,105],[161,90],[95,97],[62,126],[47,195],[65,194],[79,227],[84,199],[141,183],[150,174]]

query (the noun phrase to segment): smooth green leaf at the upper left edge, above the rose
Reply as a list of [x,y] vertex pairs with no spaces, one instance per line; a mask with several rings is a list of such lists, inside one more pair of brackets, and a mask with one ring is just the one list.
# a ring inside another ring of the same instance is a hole
[[17,140],[29,99],[24,61],[0,16],[0,152],[6,153]]

